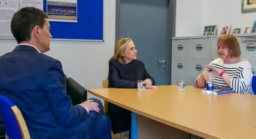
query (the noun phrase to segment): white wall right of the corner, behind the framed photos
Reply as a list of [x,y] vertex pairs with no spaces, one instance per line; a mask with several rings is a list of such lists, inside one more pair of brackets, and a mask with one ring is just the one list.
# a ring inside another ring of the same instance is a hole
[[[241,13],[241,0],[204,0],[202,24],[217,24],[217,34],[225,24],[231,24],[230,34],[234,28],[241,28],[251,25],[256,13]],[[241,31],[242,32],[242,31]]]

